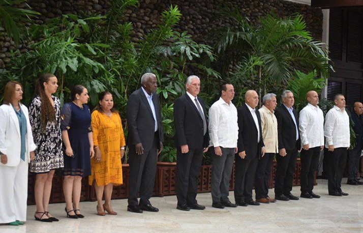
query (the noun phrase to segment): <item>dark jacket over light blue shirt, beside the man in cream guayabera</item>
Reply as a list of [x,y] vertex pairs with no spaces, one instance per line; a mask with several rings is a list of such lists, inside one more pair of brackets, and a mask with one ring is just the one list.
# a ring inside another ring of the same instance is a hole
[[279,150],[284,149],[291,151],[297,146],[297,150],[301,149],[300,144],[300,132],[299,132],[299,118],[295,108],[292,109],[292,113],[295,116],[296,124],[297,124],[297,132],[298,132],[298,140],[296,145],[296,128],[294,120],[285,107],[285,105],[281,105],[276,109],[275,115],[277,118],[277,131],[278,131],[278,140],[279,140]]

